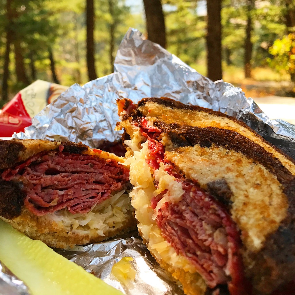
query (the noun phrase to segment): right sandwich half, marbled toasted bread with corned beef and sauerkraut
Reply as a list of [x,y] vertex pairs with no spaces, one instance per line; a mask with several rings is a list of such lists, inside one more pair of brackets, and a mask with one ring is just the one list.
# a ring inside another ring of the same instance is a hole
[[294,279],[294,160],[220,112],[118,102],[138,228],[186,294],[271,294]]

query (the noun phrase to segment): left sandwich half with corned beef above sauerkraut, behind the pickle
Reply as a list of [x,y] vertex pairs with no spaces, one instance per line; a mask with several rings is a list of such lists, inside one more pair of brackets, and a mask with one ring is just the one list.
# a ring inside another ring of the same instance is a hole
[[136,226],[124,158],[82,143],[0,140],[0,218],[67,248]]

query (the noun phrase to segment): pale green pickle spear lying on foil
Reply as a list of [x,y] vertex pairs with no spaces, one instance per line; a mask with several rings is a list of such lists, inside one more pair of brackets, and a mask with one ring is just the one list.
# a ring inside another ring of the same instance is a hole
[[0,260],[30,288],[32,295],[122,295],[43,242],[0,220]]

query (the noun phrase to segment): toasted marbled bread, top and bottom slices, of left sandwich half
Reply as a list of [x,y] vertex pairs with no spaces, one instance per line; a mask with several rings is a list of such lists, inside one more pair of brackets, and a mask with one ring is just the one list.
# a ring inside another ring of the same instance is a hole
[[[59,149],[66,153],[95,155],[106,160],[113,159],[119,163],[125,161],[123,157],[102,150],[91,149],[81,142],[0,140],[0,170],[14,167],[17,163],[21,163],[42,151]],[[74,245],[99,242],[108,237],[133,230],[136,226],[136,220],[132,211],[130,211],[126,219],[122,220],[122,226],[115,230],[110,228],[109,231],[104,232],[104,235],[99,234],[94,229],[88,229],[84,232],[82,230],[75,231],[65,227],[61,222],[48,218],[47,215],[36,216],[24,206],[24,198],[24,193],[12,181],[0,181],[0,218],[17,230],[24,232],[30,238],[42,240],[50,247],[68,248]]]

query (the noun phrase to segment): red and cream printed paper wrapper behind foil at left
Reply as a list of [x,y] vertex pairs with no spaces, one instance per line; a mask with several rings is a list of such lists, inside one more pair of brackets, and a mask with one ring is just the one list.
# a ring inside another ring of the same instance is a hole
[[68,87],[37,80],[19,91],[0,111],[0,137],[11,137],[32,124],[32,117]]

